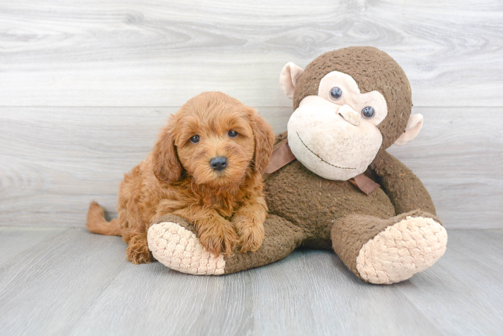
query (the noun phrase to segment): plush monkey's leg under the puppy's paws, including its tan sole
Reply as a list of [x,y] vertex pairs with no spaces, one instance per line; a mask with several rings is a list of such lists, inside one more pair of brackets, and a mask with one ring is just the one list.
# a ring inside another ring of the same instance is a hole
[[148,229],[148,247],[154,258],[171,269],[189,274],[220,275],[283,259],[305,238],[304,231],[275,215],[265,221],[264,231],[264,241],[257,251],[216,257],[201,245],[193,225],[168,214]]

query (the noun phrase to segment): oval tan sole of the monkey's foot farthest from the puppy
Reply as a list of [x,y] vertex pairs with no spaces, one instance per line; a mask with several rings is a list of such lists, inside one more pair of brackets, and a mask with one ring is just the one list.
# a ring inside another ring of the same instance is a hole
[[356,268],[367,282],[393,284],[433,265],[446,247],[442,225],[432,218],[407,216],[362,246]]

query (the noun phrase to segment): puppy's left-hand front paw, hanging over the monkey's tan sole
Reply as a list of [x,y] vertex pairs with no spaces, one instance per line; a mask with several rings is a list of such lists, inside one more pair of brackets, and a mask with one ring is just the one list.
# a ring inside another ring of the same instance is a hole
[[219,256],[232,255],[239,242],[238,235],[230,223],[214,223],[198,228],[199,241],[210,253]]

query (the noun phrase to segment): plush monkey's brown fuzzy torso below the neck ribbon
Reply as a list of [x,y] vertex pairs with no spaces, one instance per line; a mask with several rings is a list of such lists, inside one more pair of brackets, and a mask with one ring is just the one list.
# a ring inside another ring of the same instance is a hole
[[395,215],[381,188],[366,195],[348,181],[323,179],[297,160],[267,177],[264,194],[269,213],[306,228],[314,240],[330,241],[332,222],[348,214]]

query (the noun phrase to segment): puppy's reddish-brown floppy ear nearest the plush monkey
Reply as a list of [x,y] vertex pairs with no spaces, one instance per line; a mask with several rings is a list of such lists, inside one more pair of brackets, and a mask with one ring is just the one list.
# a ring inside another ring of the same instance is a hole
[[251,127],[255,138],[254,169],[263,173],[273,152],[274,131],[256,110],[250,109],[250,112]]

